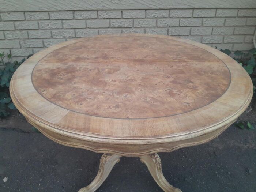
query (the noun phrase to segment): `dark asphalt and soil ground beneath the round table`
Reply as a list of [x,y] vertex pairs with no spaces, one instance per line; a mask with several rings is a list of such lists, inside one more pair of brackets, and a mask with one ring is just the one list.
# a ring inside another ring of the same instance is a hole
[[[242,120],[255,121],[251,109]],[[54,143],[31,127],[18,112],[0,121],[1,192],[76,192],[94,179],[102,154]],[[255,139],[255,130],[233,124],[209,143],[159,153],[163,174],[184,192],[255,192]],[[122,157],[98,191],[161,189],[139,158]]]

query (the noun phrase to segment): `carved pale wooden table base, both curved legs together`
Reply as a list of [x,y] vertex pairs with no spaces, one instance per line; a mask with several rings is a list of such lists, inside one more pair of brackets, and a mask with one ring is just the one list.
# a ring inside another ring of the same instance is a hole
[[[95,177],[93,182],[91,182],[91,184],[89,184],[87,187],[80,189],[78,192],[96,191],[101,186],[101,184],[106,180],[114,165],[119,162],[120,157],[120,155],[104,153],[99,163],[99,171],[97,176]],[[151,173],[151,176],[157,182],[159,187],[163,189],[163,191],[182,192],[180,189],[173,187],[168,183],[168,181],[166,181],[162,173],[162,163],[158,154],[153,153],[150,155],[140,156],[140,161],[147,166],[149,172]]]

